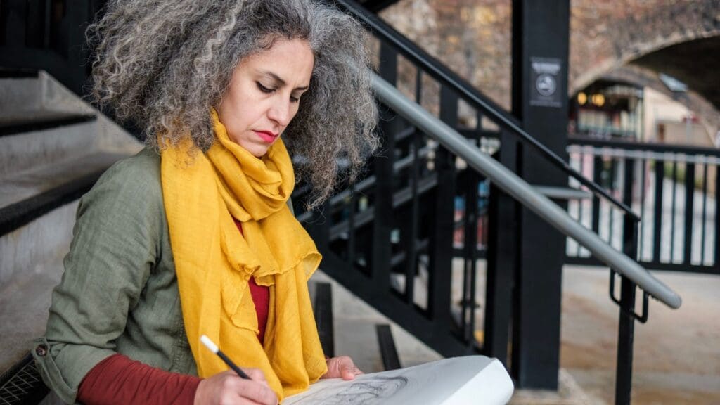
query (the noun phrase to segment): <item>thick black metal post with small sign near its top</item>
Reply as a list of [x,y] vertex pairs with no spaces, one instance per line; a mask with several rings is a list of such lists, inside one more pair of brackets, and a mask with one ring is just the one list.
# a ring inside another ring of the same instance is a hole
[[[513,0],[513,114],[565,161],[569,37],[570,0]],[[524,149],[523,179],[567,187],[564,172],[535,150]],[[518,388],[555,390],[566,237],[527,209],[521,213],[520,232],[511,371]]]

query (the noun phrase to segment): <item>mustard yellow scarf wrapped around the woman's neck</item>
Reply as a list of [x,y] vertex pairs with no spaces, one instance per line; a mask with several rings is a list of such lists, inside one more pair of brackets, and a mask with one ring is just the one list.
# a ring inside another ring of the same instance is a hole
[[[211,114],[217,142],[207,153],[189,155],[188,140],[161,159],[185,331],[201,377],[228,369],[201,347],[206,334],[240,367],[263,370],[282,400],[327,372],[307,292],[320,253],[287,206],[294,173],[282,140],[258,159]],[[262,345],[250,277],[270,291]]]

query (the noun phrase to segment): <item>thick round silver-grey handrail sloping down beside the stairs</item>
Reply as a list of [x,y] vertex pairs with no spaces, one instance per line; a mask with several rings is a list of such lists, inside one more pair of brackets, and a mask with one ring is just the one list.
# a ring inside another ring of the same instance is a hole
[[536,192],[533,187],[517,174],[472,145],[466,138],[450,128],[449,125],[433,117],[415,102],[403,96],[395,86],[374,75],[373,89],[377,97],[398,115],[415,127],[434,138],[452,153],[467,161],[473,169],[482,173],[508,195],[511,195],[540,218],[557,228],[558,231],[575,239],[595,255],[601,262],[616,272],[628,277],[645,292],[670,308],[680,308],[683,302],[680,295],[657,280],[637,262],[618,252],[606,241],[572,219],[559,205]]

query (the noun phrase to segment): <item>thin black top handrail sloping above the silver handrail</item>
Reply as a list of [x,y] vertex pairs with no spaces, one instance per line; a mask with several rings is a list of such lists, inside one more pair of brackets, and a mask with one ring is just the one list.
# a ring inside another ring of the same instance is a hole
[[413,63],[422,66],[427,73],[430,74],[430,76],[433,76],[433,78],[437,81],[453,89],[454,92],[464,97],[465,101],[472,104],[473,107],[476,107],[478,110],[482,111],[483,114],[487,115],[492,120],[495,120],[498,125],[506,130],[509,130],[510,133],[518,135],[523,141],[526,141],[536,148],[543,156],[546,157],[546,159],[549,159],[552,164],[565,172],[565,174],[570,175],[572,178],[580,182],[580,184],[588,187],[588,189],[595,195],[600,195],[608,200],[617,208],[624,211],[626,215],[629,215],[634,221],[640,221],[639,215],[634,213],[629,206],[613,197],[599,184],[583,176],[575,169],[572,169],[572,167],[570,167],[564,159],[557,156],[556,153],[544,146],[543,143],[523,130],[521,123],[518,122],[516,117],[513,117],[508,112],[505,112],[500,106],[490,101],[490,99],[483,97],[480,92],[477,92],[477,90],[474,89],[472,84],[469,84],[466,80],[462,79],[462,77],[446,68],[442,63],[436,61],[435,58],[420,49],[418,45],[415,45],[413,42],[403,37],[399,32],[393,30],[392,27],[382,22],[382,20],[374,14],[366,11],[363,6],[354,0],[334,0],[333,3],[339,6],[343,12],[351,14],[356,19],[359,19],[364,23],[364,25],[366,25],[366,27],[369,28],[369,30],[377,33],[377,35],[384,38],[384,40],[390,42],[393,47],[405,56],[405,58],[408,58]]

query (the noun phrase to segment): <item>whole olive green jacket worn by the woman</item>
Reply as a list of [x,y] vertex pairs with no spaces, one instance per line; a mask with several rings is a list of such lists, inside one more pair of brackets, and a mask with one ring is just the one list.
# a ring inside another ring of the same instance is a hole
[[75,402],[89,370],[115,353],[197,375],[157,153],[145,149],[119,161],[81,198],[64,264],[45,337],[32,350],[42,379],[60,399]]

